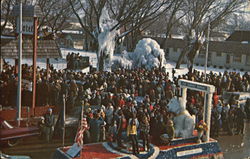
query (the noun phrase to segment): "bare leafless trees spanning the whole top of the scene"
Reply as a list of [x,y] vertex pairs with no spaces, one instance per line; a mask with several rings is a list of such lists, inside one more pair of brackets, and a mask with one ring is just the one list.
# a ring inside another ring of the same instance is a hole
[[[92,41],[98,66],[110,65],[115,46],[127,38],[127,50],[132,50],[141,32],[148,29],[165,37],[175,31],[185,36],[186,44],[176,68],[187,57],[192,68],[195,55],[204,44],[208,23],[211,29],[230,31],[249,28],[249,21],[239,15],[247,0],[23,0],[37,4],[42,10],[39,29],[46,27],[50,35],[65,28],[67,20],[76,17],[85,38]],[[13,24],[11,10],[17,0],[1,0],[1,35]],[[228,27],[229,26],[229,27]],[[165,41],[161,43],[164,47]]]

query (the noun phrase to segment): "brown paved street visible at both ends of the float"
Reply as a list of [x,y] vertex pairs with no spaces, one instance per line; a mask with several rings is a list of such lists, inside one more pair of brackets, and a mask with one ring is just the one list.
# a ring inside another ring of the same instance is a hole
[[[250,159],[250,122],[246,123],[245,135],[223,135],[217,140],[224,152],[225,159]],[[71,144],[72,141],[67,139],[65,145]],[[62,141],[59,139],[47,144],[37,137],[31,137],[23,140],[15,147],[3,148],[2,151],[9,155],[28,155],[32,159],[48,159],[60,146],[62,146]]]

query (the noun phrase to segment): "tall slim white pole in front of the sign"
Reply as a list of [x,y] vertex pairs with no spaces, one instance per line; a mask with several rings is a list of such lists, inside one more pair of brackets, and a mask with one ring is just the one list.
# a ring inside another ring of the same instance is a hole
[[22,109],[22,0],[19,1],[19,40],[18,40],[18,86],[17,86],[17,126],[20,127]]

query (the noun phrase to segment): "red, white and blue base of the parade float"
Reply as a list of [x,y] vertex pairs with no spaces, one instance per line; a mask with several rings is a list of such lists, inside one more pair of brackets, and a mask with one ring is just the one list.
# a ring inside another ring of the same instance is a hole
[[[140,154],[133,155],[131,147],[118,148],[115,143],[102,142],[84,145],[77,157],[70,157],[66,152],[70,147],[57,148],[53,159],[166,159],[166,158],[223,158],[219,143],[211,139],[208,142],[196,143],[197,137],[174,139],[170,145],[150,145],[149,151],[140,148]],[[139,142],[141,147],[141,142]]]

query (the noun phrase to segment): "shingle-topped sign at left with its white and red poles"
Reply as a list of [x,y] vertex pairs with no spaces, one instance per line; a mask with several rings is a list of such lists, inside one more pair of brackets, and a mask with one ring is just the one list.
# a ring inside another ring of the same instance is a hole
[[18,89],[17,89],[17,124],[20,126],[21,120],[21,88],[22,88],[22,38],[23,34],[33,35],[33,86],[32,86],[32,113],[35,108],[36,94],[36,57],[37,57],[37,25],[38,17],[42,16],[39,6],[19,5],[13,7],[13,16],[17,18],[17,33],[19,34],[18,47]]

